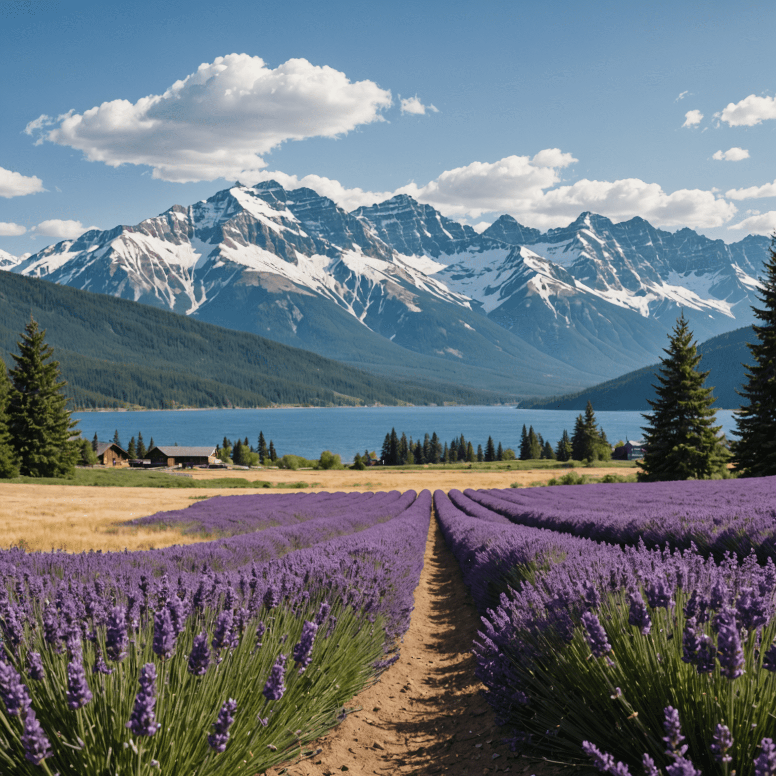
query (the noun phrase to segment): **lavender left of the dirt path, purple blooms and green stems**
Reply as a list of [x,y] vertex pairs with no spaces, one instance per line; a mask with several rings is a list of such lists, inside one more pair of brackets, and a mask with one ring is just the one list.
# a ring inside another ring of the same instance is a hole
[[303,753],[397,659],[431,494],[318,504],[306,546],[287,552],[283,535],[268,560],[255,539],[281,527],[147,553],[0,553],[0,771],[256,773]]

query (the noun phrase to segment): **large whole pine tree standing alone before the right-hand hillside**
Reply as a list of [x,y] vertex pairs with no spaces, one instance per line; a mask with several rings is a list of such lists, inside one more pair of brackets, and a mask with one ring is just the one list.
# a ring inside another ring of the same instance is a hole
[[657,399],[649,400],[652,413],[643,415],[648,425],[639,481],[706,480],[722,472],[728,454],[717,436],[722,427],[714,425],[713,389],[703,387],[708,372],[698,372],[701,355],[684,313],[663,350],[660,384],[653,386]]

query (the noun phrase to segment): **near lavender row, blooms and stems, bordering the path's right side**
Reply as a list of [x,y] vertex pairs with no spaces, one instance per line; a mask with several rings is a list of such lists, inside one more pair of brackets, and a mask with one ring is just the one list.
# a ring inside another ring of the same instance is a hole
[[774,773],[770,558],[608,545],[511,523],[469,495],[437,491],[435,509],[483,612],[477,675],[515,749],[584,751],[620,776],[661,763],[670,776]]

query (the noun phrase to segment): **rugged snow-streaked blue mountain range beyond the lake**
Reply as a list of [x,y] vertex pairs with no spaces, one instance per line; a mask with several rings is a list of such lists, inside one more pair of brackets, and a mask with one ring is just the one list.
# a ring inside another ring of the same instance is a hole
[[548,396],[655,362],[680,309],[699,339],[750,324],[768,245],[594,213],[546,232],[504,215],[478,234],[409,196],[347,213],[270,181],[0,268],[372,373]]

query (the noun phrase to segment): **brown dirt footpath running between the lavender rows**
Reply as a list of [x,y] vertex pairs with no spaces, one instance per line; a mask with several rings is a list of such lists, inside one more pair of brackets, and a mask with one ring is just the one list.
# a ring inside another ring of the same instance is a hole
[[431,519],[415,609],[400,660],[348,708],[360,708],[310,744],[320,754],[273,767],[268,776],[352,774],[539,774],[501,743],[483,687],[474,677],[479,618],[456,559]]

